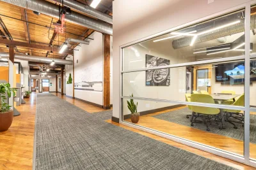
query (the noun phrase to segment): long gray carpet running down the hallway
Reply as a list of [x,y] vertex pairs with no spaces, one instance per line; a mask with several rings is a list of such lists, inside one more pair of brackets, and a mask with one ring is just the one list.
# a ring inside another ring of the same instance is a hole
[[234,169],[108,124],[102,115],[38,94],[35,169]]

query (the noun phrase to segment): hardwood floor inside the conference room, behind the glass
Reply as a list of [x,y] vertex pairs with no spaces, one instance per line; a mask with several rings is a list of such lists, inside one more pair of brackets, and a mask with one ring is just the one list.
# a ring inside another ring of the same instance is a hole
[[[179,136],[180,138],[189,139],[191,141],[196,141],[198,143],[202,143],[208,146],[213,146],[215,148],[220,148],[221,150],[236,153],[238,155],[244,154],[244,143],[241,140],[229,138],[228,136],[223,136],[220,134],[214,134],[211,131],[202,131],[200,129],[196,129],[186,125],[175,124],[172,122],[152,117],[154,115],[159,115],[161,113],[166,113],[168,111],[179,110],[181,108],[186,108],[186,106],[141,116],[140,121],[137,123],[137,125],[148,127],[150,129],[154,129],[160,132],[165,132],[166,134]],[[131,119],[127,119],[125,121],[131,122]],[[239,125],[239,128],[243,127]],[[234,131],[236,131],[236,129],[234,129]],[[256,159],[255,144],[250,143],[250,151],[250,157]]]

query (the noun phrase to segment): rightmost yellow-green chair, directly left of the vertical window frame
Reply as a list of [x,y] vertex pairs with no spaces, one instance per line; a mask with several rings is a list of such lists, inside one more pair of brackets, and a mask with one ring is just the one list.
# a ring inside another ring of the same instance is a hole
[[[244,106],[244,94],[241,96],[237,97],[237,100],[232,104],[232,106]],[[234,125],[234,129],[237,129],[237,126],[235,123],[242,124],[244,126],[244,114],[241,113],[241,110],[222,110],[223,112],[226,113],[226,119],[227,121]],[[239,120],[239,122],[232,122],[230,118],[235,118],[236,120]]]

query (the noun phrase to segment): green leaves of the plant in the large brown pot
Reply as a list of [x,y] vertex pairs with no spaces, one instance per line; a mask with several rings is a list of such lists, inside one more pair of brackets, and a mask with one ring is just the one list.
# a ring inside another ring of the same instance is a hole
[[[0,83],[0,113],[4,113],[6,111],[9,111],[12,106],[10,106],[8,103],[6,103],[7,97],[10,98],[12,96],[15,96],[16,89],[13,89],[10,87],[9,83]],[[5,96],[7,94],[7,97]]]

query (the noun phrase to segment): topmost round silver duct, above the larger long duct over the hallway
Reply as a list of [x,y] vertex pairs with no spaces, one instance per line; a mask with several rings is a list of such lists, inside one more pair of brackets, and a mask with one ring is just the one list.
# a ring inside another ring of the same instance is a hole
[[[52,0],[54,2],[62,4],[62,0]],[[113,18],[105,13],[102,13],[100,11],[95,10],[94,8],[77,3],[73,0],[64,0],[63,1],[64,6],[67,6],[69,8],[73,8],[76,11],[80,11],[81,13],[85,13],[86,15],[90,15],[92,17],[98,18],[99,20],[103,20],[104,22],[108,22],[109,24],[113,24]]]

